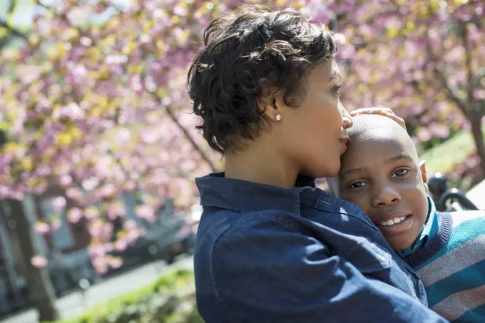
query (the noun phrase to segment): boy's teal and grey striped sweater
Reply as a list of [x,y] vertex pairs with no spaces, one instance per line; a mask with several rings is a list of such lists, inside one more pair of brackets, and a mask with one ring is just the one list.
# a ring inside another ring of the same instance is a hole
[[483,323],[485,212],[436,216],[439,230],[405,259],[421,277],[431,309],[450,322]]

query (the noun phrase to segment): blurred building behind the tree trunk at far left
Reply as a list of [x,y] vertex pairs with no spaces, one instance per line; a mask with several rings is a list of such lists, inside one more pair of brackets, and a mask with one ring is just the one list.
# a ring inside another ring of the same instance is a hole
[[[41,196],[26,196],[23,201],[31,225],[38,220],[48,220],[54,211],[51,200],[58,196],[55,190]],[[0,213],[0,315],[9,314],[29,306],[29,292],[26,286],[26,264],[21,257],[20,239],[14,235],[14,216]],[[90,240],[82,223],[73,224],[61,214],[61,227],[46,235],[36,234],[36,245],[41,255],[48,258],[48,271],[60,295],[76,284],[77,278],[95,280],[87,245]]]

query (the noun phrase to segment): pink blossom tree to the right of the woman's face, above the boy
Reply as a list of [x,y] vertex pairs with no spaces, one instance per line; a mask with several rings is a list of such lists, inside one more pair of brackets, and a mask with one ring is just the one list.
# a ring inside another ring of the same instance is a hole
[[417,143],[471,130],[485,170],[485,3],[307,0],[337,31],[347,108],[389,106]]

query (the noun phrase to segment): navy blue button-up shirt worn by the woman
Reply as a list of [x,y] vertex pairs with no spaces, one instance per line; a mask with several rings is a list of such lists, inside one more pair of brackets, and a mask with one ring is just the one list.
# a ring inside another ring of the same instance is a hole
[[206,323],[446,322],[356,205],[300,177],[286,189],[196,180],[195,286]]

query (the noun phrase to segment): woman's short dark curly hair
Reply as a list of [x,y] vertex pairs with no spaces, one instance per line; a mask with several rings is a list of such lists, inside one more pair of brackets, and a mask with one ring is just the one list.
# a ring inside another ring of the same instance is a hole
[[248,6],[215,19],[188,73],[205,140],[223,154],[237,149],[238,138],[253,140],[263,122],[258,103],[267,91],[282,91],[285,104],[297,107],[309,68],[336,54],[325,26],[294,9]]

